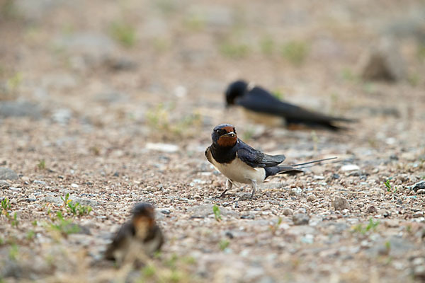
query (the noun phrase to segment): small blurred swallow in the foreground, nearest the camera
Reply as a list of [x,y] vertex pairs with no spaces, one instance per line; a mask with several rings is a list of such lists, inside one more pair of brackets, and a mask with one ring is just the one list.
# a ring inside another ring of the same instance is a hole
[[155,223],[154,213],[151,204],[136,204],[132,209],[132,218],[118,230],[105,252],[105,258],[121,265],[136,260],[140,254],[153,255],[159,251],[164,236]]

